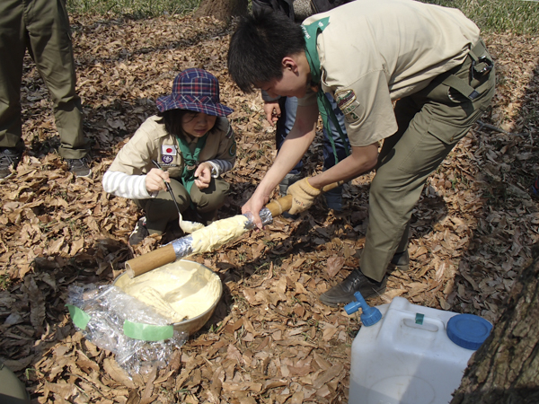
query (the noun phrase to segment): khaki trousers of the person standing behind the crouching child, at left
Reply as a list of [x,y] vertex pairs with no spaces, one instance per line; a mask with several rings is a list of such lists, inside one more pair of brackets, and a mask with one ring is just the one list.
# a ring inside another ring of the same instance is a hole
[[22,62],[26,49],[49,89],[66,159],[87,154],[83,109],[65,0],[0,1],[0,147],[21,147]]

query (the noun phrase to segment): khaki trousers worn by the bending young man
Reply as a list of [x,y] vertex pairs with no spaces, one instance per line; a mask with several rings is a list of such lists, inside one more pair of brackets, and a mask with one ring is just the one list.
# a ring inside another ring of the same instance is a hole
[[[482,53],[490,57],[486,48]],[[411,211],[425,181],[489,107],[494,69],[473,76],[472,67],[468,57],[427,88],[396,102],[399,130],[384,140],[369,191],[369,223],[360,263],[367,277],[381,281],[393,254],[408,248]],[[479,96],[464,97],[443,83],[447,75],[469,84]]]

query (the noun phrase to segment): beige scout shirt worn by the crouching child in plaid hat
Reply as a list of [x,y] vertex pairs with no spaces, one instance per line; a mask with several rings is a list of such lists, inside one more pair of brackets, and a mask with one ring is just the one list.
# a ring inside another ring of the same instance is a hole
[[[138,128],[127,145],[110,165],[109,171],[120,171],[128,175],[146,174],[155,168],[152,160],[159,162],[164,171],[168,171],[172,178],[181,178],[183,171],[183,157],[175,136],[169,135],[164,125],[156,121],[157,116],[150,117]],[[193,138],[196,145],[197,138]],[[200,151],[199,162],[208,160],[225,160],[235,162],[234,131],[227,119],[217,118],[216,126],[210,131],[206,145]]]

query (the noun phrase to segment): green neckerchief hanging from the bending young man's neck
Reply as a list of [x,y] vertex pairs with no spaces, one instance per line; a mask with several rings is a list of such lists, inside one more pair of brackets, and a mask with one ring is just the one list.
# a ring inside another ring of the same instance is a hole
[[342,133],[340,128],[340,123],[335,112],[331,108],[331,103],[323,92],[322,85],[320,83],[320,59],[318,58],[318,51],[316,50],[316,38],[318,34],[322,32],[330,22],[330,17],[325,17],[322,20],[315,21],[309,25],[302,25],[301,28],[304,31],[305,36],[305,57],[307,57],[307,62],[309,62],[309,67],[311,67],[311,82],[318,86],[318,92],[316,92],[316,101],[318,103],[318,110],[322,116],[323,127],[328,133],[330,138],[331,147],[333,149],[333,155],[335,156],[335,164],[339,162],[339,157],[337,156],[337,150],[335,149],[335,141],[333,136],[331,136],[331,127],[330,119],[333,122],[333,125],[339,131],[340,139],[346,150],[346,155],[350,154],[347,138]]

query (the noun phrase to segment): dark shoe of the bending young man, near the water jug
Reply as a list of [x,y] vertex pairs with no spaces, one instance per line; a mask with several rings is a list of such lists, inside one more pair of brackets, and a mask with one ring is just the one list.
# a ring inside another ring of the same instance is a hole
[[375,294],[383,294],[385,285],[387,285],[387,276],[384,276],[382,281],[376,282],[363,275],[359,269],[354,269],[340,284],[321,294],[319,299],[322,303],[335,307],[340,303],[355,302],[354,294],[356,292],[360,292],[364,299]]

